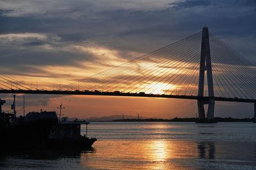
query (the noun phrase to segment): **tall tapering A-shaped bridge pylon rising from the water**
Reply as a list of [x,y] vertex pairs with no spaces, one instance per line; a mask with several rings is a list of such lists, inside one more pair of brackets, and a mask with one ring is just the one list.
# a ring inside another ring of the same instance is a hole
[[[204,83],[205,83],[205,71],[207,74],[207,89],[209,99],[200,99],[204,97]],[[214,118],[214,89],[212,80],[212,64],[211,64],[211,51],[209,43],[209,31],[208,27],[203,27],[202,31],[202,42],[201,42],[201,56],[200,56],[200,71],[199,71],[199,82],[198,82],[198,117],[199,119],[205,119],[204,104],[208,104],[208,111],[206,118],[211,120]]]

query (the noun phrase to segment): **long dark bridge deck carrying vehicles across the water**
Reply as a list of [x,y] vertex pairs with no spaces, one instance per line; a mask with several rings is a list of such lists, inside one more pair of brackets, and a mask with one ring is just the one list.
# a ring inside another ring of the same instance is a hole
[[[100,92],[100,91],[61,91],[61,90],[0,90],[0,94],[58,94],[58,95],[93,95],[93,96],[130,96],[130,97],[158,97],[158,98],[173,98],[173,99],[196,99],[208,100],[210,97],[200,96],[184,96],[184,95],[167,95],[167,94],[145,94],[140,93],[123,93],[123,92]],[[215,101],[230,101],[243,103],[256,103],[256,99],[241,99],[214,97]]]

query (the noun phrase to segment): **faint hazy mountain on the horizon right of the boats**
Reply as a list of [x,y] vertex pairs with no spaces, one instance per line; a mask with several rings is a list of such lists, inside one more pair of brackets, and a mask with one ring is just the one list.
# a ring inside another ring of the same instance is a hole
[[[129,119],[136,119],[137,117],[131,116],[131,115],[124,115],[124,118],[129,118]],[[140,117],[141,119],[145,119],[146,117]],[[147,117],[148,118],[148,117]],[[89,117],[89,118],[83,118],[82,120],[86,121],[112,121],[112,120],[118,120],[118,119],[123,119],[123,115],[111,115],[108,117]]]

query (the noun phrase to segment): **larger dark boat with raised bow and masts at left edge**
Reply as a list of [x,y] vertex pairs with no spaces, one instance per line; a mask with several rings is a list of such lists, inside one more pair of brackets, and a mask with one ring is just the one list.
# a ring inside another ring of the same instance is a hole
[[[47,147],[49,134],[58,125],[56,112],[41,110],[16,117],[15,95],[13,99],[13,113],[4,113],[2,110],[0,113],[0,147],[8,149]],[[3,103],[4,101],[0,106]]]

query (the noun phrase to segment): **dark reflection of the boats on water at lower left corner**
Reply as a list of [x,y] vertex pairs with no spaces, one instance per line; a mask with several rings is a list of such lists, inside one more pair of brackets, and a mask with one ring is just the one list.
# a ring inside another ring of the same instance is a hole
[[0,153],[0,169],[83,169],[78,162],[93,148],[65,150],[12,150]]

